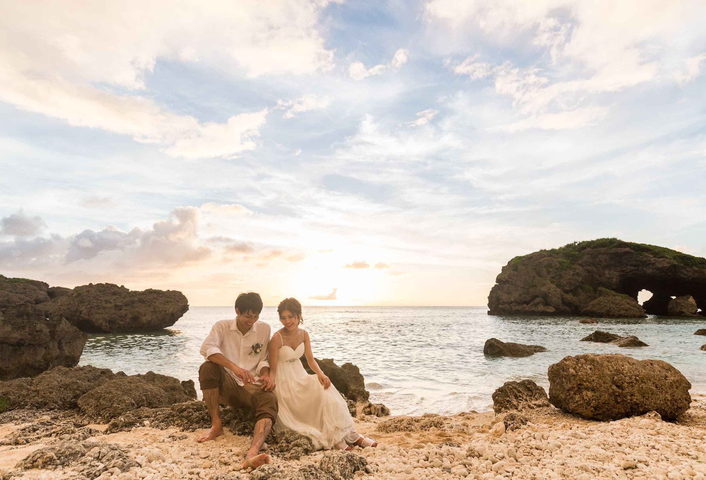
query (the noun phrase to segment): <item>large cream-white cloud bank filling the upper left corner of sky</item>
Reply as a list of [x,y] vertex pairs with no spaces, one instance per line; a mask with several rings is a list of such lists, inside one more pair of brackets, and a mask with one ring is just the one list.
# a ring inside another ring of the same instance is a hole
[[333,50],[318,25],[328,3],[17,2],[0,18],[0,100],[157,144],[172,157],[232,157],[256,147],[267,109],[203,122],[136,92],[148,90],[160,61],[227,78],[330,71]]

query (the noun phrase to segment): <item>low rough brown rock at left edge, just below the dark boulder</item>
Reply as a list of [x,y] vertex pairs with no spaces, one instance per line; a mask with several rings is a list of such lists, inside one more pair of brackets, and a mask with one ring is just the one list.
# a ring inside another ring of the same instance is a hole
[[0,397],[7,397],[10,409],[74,409],[78,398],[89,390],[125,373],[113,373],[108,368],[57,366],[34,378],[16,378],[0,382]]

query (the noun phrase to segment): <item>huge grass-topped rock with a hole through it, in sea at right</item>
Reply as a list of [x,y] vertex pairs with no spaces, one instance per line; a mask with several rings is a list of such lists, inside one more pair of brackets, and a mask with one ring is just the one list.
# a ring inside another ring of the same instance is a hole
[[[642,289],[653,295],[640,307]],[[642,317],[666,315],[671,296],[686,295],[706,310],[706,258],[598,239],[513,258],[496,278],[488,306],[491,315]]]

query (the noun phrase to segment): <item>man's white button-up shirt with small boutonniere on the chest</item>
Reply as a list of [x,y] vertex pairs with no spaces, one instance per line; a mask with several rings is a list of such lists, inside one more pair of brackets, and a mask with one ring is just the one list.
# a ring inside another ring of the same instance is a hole
[[[213,354],[222,354],[225,358],[232,361],[234,364],[249,371],[256,378],[257,383],[261,383],[260,371],[266,366],[269,368],[268,362],[268,344],[270,343],[270,325],[260,320],[253,323],[253,326],[243,335],[238,330],[237,321],[220,320],[213,325],[208,337],[201,344],[201,355],[208,360],[208,357]],[[257,345],[259,353],[254,352]],[[244,385],[230,368],[225,368],[225,371],[238,383]]]

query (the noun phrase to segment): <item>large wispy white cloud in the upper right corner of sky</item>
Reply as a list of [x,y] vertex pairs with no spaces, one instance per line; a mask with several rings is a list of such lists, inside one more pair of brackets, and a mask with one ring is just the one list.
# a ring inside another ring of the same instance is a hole
[[[612,5],[612,4],[611,4]],[[493,47],[529,44],[537,49],[534,61],[516,66],[516,59],[479,61],[479,54],[468,56],[460,64],[448,61],[458,75],[471,80],[490,79],[498,95],[510,97],[513,107],[533,128],[556,128],[556,117],[544,115],[573,112],[578,117],[590,107],[609,108],[606,93],[659,78],[674,78],[676,52],[672,39],[683,29],[698,28],[690,16],[698,15],[698,4],[676,0],[665,4],[647,1],[623,2],[611,9],[606,21],[606,1],[586,3],[579,0],[544,0],[532,4],[515,0],[468,2],[452,0],[426,3],[427,19],[445,25],[459,35],[481,35]],[[453,35],[450,34],[450,35]],[[685,49],[684,52],[687,52]],[[676,80],[685,83],[698,75],[700,56],[683,59]],[[674,80],[673,80],[674,81]],[[579,128],[593,124],[573,121]],[[520,129],[517,124],[515,130]]]

